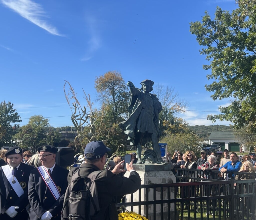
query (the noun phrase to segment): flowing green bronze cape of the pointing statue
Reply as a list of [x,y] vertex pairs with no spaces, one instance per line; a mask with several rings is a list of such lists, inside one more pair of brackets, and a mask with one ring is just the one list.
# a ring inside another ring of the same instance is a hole
[[[151,93],[149,93],[149,95],[151,96],[154,102],[153,121],[154,121],[156,130],[159,131],[158,114],[159,112],[162,111],[162,105],[161,105],[161,102],[158,101],[158,98],[156,98],[156,95]],[[128,140],[130,140],[132,143],[134,143],[135,127],[136,127],[137,119],[141,113],[141,109],[143,107],[143,102],[144,102],[144,93],[142,91],[140,91],[139,96],[134,96],[131,94],[131,97],[129,100],[129,106],[127,108],[129,118],[126,121],[123,121],[119,124],[119,127],[122,128],[124,133],[129,136]]]

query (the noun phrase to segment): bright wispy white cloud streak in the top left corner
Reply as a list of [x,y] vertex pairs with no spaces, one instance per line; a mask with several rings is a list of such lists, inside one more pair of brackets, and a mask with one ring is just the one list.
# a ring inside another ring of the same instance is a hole
[[42,17],[47,17],[42,6],[30,0],[1,0],[1,2],[8,8],[12,9],[20,16],[28,19],[35,25],[45,29],[47,32],[57,36],[61,35],[57,28],[48,24]]

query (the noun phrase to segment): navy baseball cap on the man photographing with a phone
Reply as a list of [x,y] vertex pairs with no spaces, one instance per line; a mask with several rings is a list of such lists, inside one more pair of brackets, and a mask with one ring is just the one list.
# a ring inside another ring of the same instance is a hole
[[[110,152],[111,149],[107,148],[102,141],[92,141],[88,143],[84,149],[84,157],[88,160],[99,159],[103,157],[106,152]],[[93,157],[87,157],[86,154],[94,154]]]

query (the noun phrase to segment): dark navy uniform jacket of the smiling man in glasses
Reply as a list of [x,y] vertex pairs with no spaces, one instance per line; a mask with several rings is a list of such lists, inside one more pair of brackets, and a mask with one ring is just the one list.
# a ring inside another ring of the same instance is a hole
[[60,198],[55,200],[38,170],[31,172],[28,183],[28,199],[31,205],[29,220],[39,220],[46,211],[52,214],[52,220],[60,219],[64,194],[68,187],[67,176],[68,170],[55,164],[51,178],[60,192]]

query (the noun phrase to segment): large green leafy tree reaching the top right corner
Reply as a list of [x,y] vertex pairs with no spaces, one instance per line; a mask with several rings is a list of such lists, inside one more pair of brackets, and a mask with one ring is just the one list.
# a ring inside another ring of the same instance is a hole
[[190,32],[196,35],[200,54],[206,56],[211,70],[205,88],[213,100],[232,98],[220,114],[207,119],[231,121],[239,129],[247,124],[256,132],[256,0],[239,0],[232,12],[217,7],[215,18],[205,12],[202,21],[191,22]]

